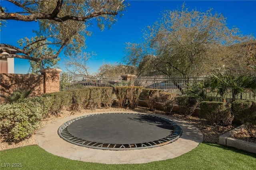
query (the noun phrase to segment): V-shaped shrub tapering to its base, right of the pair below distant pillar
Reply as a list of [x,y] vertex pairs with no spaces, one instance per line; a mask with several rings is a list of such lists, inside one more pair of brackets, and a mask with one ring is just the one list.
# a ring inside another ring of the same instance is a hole
[[142,89],[142,94],[146,100],[146,103],[150,111],[154,111],[154,109],[156,108],[156,101],[159,98],[159,92],[162,92],[162,90],[151,88]]

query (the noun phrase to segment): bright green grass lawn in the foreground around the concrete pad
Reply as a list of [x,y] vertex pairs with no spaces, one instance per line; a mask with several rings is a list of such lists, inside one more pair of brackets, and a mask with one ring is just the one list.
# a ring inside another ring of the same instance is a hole
[[[256,170],[256,154],[213,143],[201,143],[177,158],[146,164],[99,164],[55,156],[39,146],[27,146],[0,152],[1,170]],[[22,163],[22,168],[3,167]]]

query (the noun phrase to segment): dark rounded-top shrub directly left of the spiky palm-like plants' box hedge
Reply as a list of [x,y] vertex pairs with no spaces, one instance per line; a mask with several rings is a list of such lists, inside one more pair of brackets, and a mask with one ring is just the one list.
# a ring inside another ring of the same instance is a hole
[[174,101],[178,104],[180,114],[184,117],[191,116],[198,105],[198,100],[194,96],[176,96]]

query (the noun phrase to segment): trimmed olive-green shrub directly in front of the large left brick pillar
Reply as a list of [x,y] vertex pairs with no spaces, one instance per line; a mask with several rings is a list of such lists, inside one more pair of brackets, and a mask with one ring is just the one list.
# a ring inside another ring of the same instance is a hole
[[53,92],[44,94],[44,96],[50,96],[53,100],[50,113],[60,115],[64,107],[70,107],[72,95],[73,92]]

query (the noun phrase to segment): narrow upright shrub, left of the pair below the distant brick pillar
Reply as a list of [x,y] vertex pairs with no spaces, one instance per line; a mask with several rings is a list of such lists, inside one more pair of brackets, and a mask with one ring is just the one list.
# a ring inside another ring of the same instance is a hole
[[115,87],[118,107],[124,107],[124,105],[128,104],[127,89],[128,89],[128,86]]

